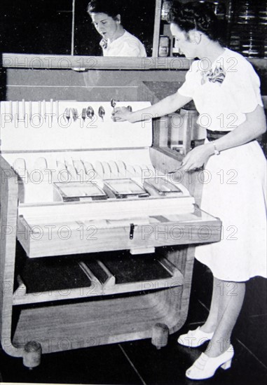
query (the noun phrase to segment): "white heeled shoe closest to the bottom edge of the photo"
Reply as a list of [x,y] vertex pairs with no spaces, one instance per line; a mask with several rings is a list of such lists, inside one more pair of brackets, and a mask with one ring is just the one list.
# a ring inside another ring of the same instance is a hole
[[190,379],[207,379],[214,375],[219,366],[224,370],[231,367],[233,358],[233,346],[230,345],[224,353],[217,357],[208,357],[202,353],[188,370],[186,377]]

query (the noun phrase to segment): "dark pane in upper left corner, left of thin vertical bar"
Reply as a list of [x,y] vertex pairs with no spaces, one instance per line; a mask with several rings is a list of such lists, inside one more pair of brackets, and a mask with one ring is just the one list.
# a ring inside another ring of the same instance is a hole
[[69,55],[72,0],[1,0],[1,51]]

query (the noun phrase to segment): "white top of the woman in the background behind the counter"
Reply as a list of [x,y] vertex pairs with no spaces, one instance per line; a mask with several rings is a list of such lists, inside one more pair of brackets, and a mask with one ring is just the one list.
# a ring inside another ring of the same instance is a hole
[[107,47],[102,50],[104,56],[146,57],[144,45],[128,31],[112,42],[108,40]]

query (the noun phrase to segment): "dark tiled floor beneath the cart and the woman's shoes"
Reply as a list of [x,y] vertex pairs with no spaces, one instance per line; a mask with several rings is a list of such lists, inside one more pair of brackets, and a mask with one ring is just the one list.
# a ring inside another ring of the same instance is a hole
[[177,335],[196,328],[207,316],[211,296],[211,276],[203,265],[194,266],[189,317],[169,343],[157,350],[149,340],[98,346],[90,349],[43,355],[41,365],[28,370],[20,358],[0,350],[0,383],[56,384],[227,384],[267,383],[267,280],[247,283],[245,303],[233,332],[235,348],[230,370],[217,370],[212,379],[190,381],[187,367],[205,349],[189,349],[177,344]]

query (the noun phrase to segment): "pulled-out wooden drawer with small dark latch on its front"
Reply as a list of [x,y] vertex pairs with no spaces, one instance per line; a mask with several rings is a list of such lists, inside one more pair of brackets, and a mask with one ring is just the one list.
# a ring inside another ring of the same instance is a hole
[[196,208],[193,213],[125,218],[118,221],[49,223],[18,217],[18,240],[31,258],[130,250],[219,241],[221,221]]

